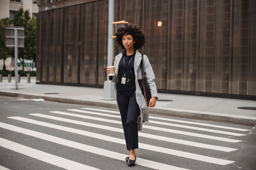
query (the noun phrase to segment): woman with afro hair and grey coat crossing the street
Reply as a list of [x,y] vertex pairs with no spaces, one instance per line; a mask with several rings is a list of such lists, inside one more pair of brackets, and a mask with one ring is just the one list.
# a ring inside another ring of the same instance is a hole
[[[137,24],[124,24],[117,29],[115,40],[124,49],[115,57],[115,75],[109,76],[114,82],[114,91],[121,114],[126,147],[130,151],[125,158],[128,166],[136,162],[135,149],[138,148],[138,130],[142,130],[142,122],[148,121],[147,103],[142,95],[138,80],[142,79],[140,63],[143,58],[144,72],[151,96],[148,107],[154,107],[157,99],[155,75],[146,55],[137,50],[145,44],[145,33]],[[107,73],[109,68],[107,67]]]

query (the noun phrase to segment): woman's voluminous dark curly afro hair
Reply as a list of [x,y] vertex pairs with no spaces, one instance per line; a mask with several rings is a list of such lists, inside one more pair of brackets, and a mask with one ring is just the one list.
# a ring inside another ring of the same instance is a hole
[[116,44],[122,49],[125,49],[123,45],[123,36],[127,34],[131,35],[135,40],[133,48],[136,50],[141,49],[146,43],[145,32],[141,29],[141,27],[138,24],[125,23],[124,26],[119,27],[116,30],[116,33],[114,34],[116,36]]

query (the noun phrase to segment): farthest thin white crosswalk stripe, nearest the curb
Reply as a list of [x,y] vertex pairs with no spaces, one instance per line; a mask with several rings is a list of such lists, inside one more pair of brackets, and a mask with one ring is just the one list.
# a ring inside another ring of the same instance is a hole
[[[120,112],[117,112],[117,111],[109,111],[109,110],[97,109],[97,108],[83,107],[81,109],[87,109],[87,110],[99,111],[99,112],[106,112],[106,113],[120,114]],[[198,122],[191,122],[191,121],[177,120],[177,119],[169,119],[169,118],[162,118],[162,117],[155,117],[155,116],[149,116],[149,118],[151,118],[151,119],[158,119],[158,120],[167,120],[167,121],[172,121],[172,122],[196,124],[196,125],[202,125],[202,126],[210,126],[210,127],[214,127],[214,128],[230,129],[230,130],[236,130],[236,131],[250,131],[248,129],[233,128],[233,127],[228,127],[228,126],[221,126],[221,125],[208,124],[208,123],[198,123]]]

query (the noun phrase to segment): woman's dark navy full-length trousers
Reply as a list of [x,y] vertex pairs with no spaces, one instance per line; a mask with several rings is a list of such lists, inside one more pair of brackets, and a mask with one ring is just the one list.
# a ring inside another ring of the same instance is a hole
[[116,100],[121,114],[127,150],[138,148],[138,116],[140,108],[135,92],[125,94],[117,92]]

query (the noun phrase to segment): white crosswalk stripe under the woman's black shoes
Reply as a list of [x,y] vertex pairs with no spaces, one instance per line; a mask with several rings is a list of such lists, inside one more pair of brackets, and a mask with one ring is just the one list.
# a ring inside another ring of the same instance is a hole
[[[26,134],[26,135],[29,135],[29,136],[33,136],[33,137],[36,137],[36,138],[39,138],[39,139],[43,139],[43,140],[51,141],[51,142],[54,142],[54,143],[58,143],[60,145],[68,146],[68,147],[75,148],[75,149],[80,149],[80,150],[83,150],[83,151],[86,151],[86,152],[91,152],[91,153],[106,156],[106,157],[111,157],[111,158],[118,159],[118,160],[123,160],[124,161],[124,158],[127,156],[126,154],[117,153],[117,152],[113,152],[113,151],[109,151],[109,150],[105,150],[105,149],[85,145],[83,143],[78,143],[78,142],[74,142],[74,141],[71,141],[71,140],[62,139],[62,138],[55,137],[55,136],[52,136],[52,135],[47,135],[47,134],[44,134],[44,133],[40,133],[40,132],[20,128],[18,126],[14,126],[14,125],[2,123],[2,122],[0,122],[0,127],[4,128],[4,129],[11,130],[11,131],[14,131],[14,132],[18,132],[18,133]],[[63,163],[63,162],[61,162],[61,163]],[[175,167],[175,166],[171,166],[171,165],[167,165],[167,164],[162,164],[162,163],[154,162],[152,160],[142,159],[142,158],[138,158],[138,157],[136,159],[136,164],[141,165],[141,166],[145,166],[145,167],[148,167],[148,168],[153,168],[153,169],[159,169],[159,167],[161,167],[161,169],[163,169],[163,170],[170,170],[170,169],[185,170],[184,168],[179,168],[179,167]]]

